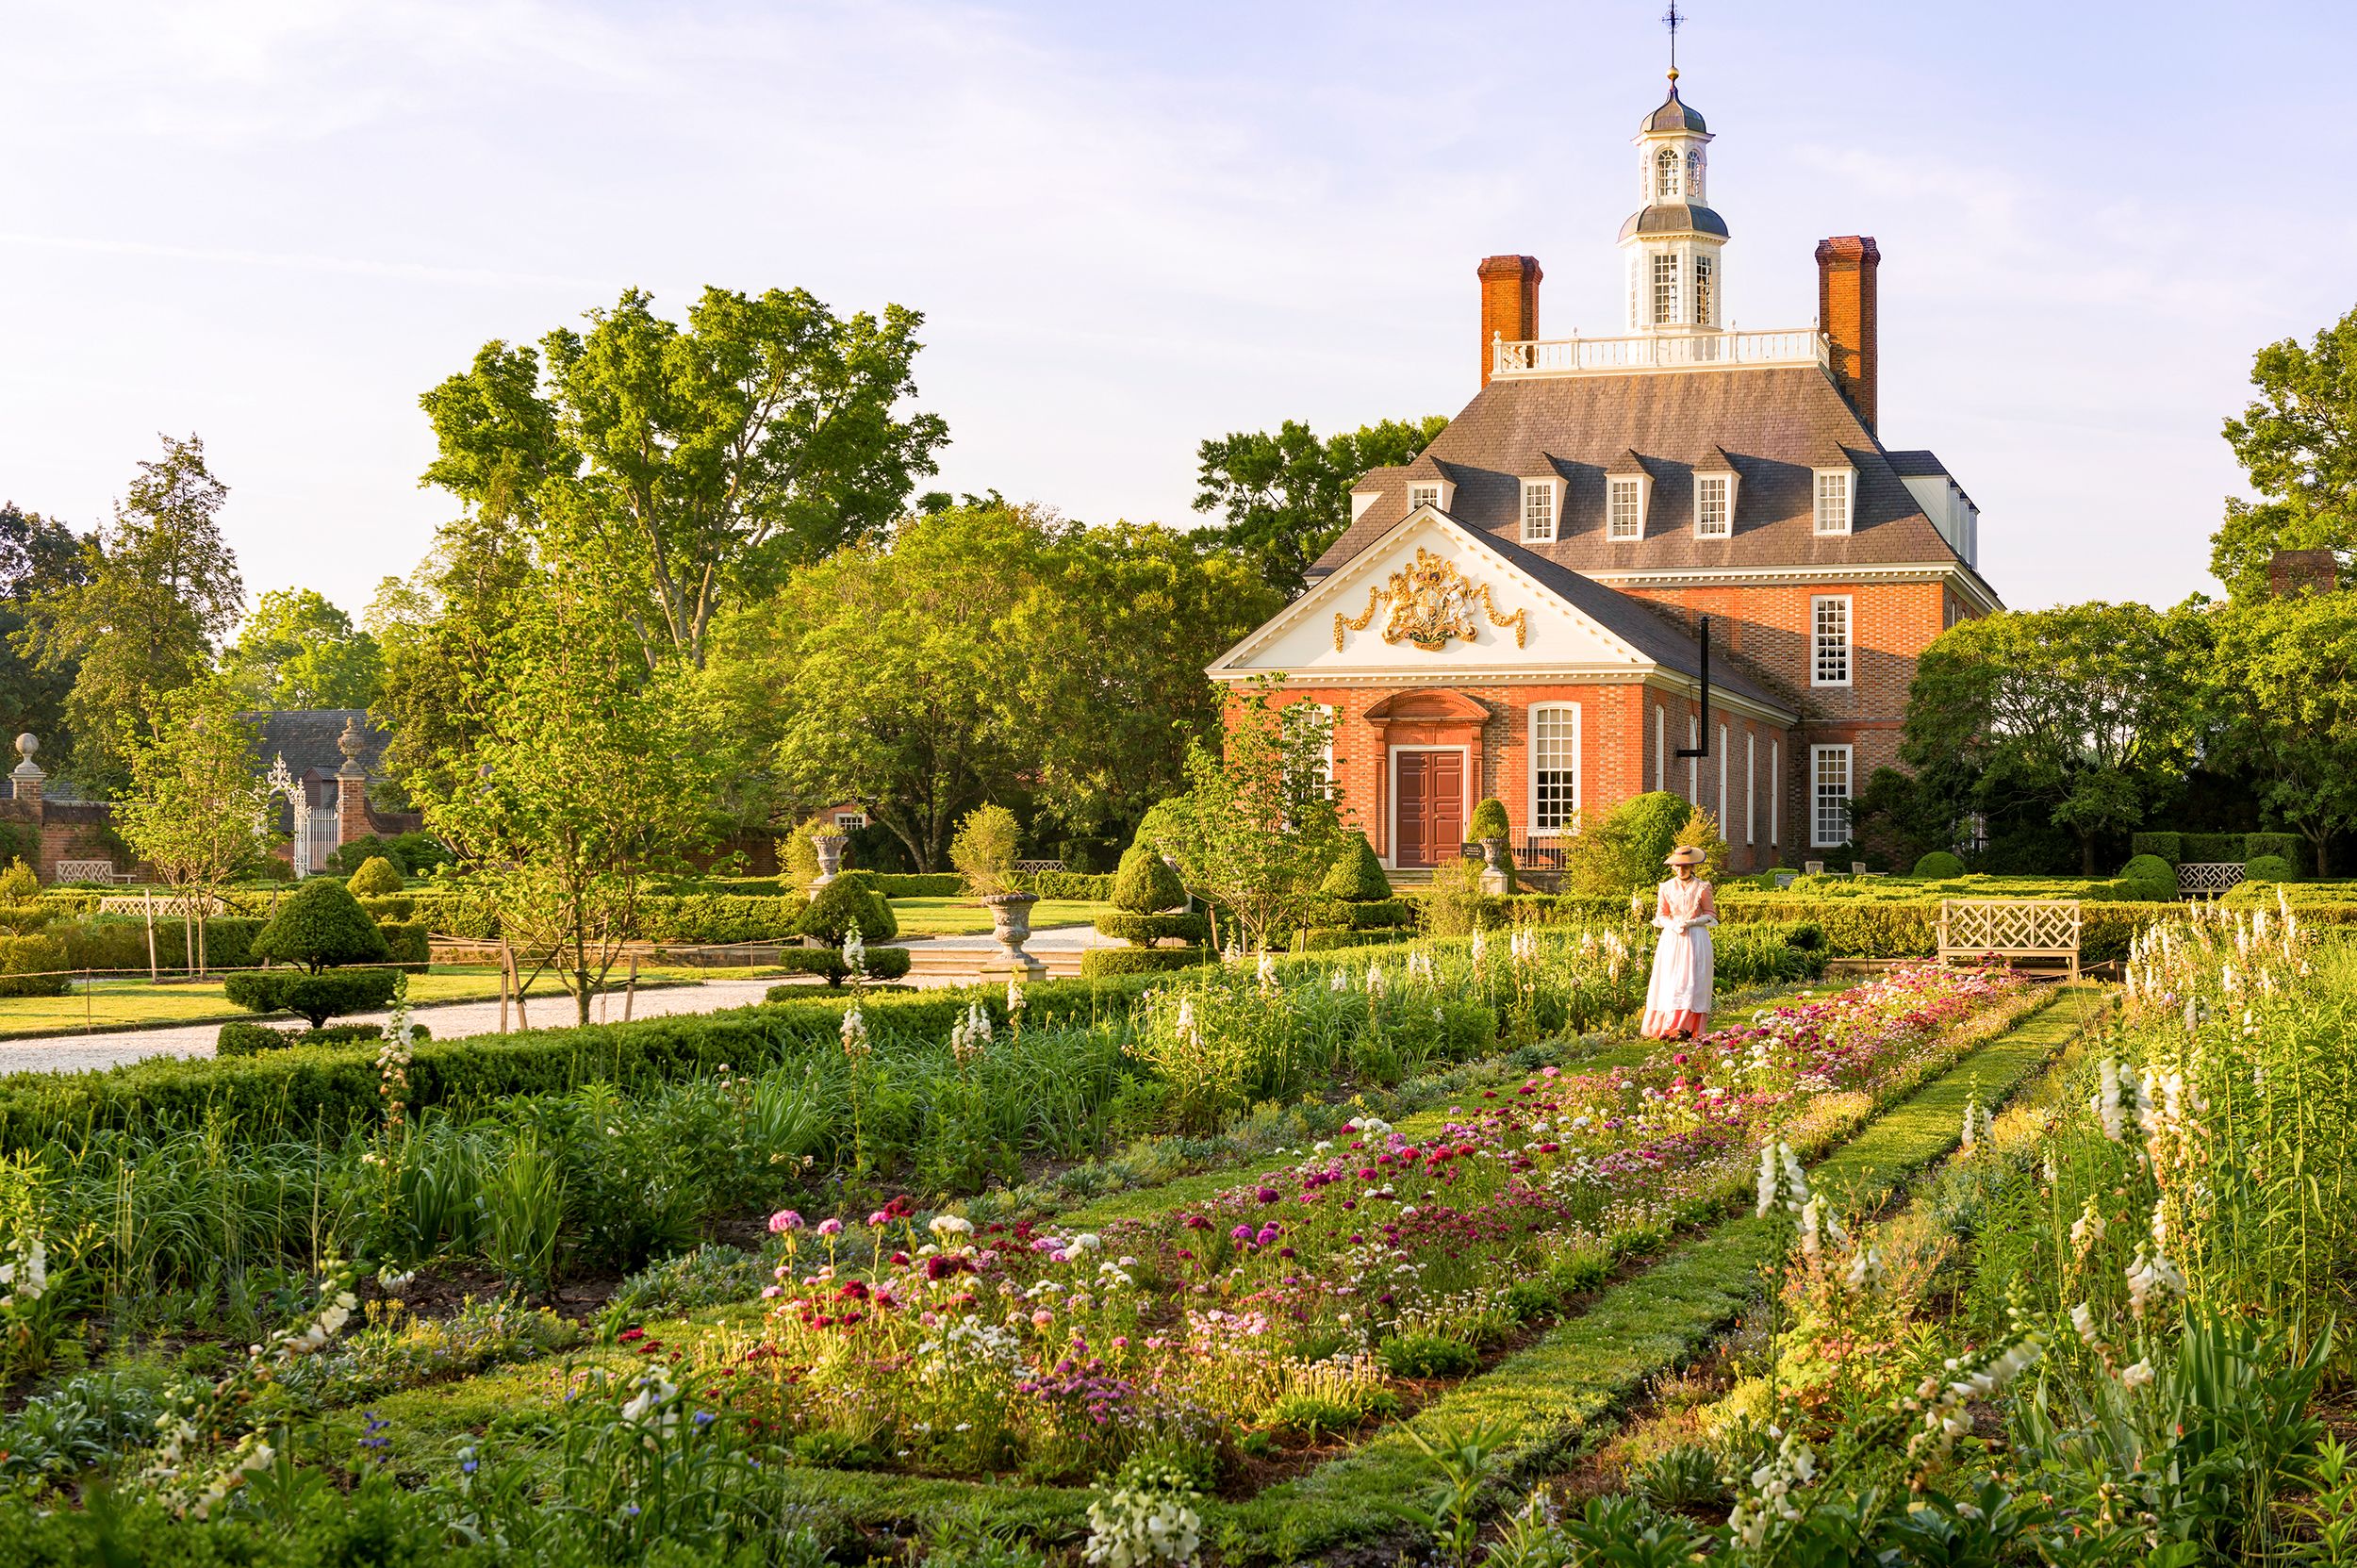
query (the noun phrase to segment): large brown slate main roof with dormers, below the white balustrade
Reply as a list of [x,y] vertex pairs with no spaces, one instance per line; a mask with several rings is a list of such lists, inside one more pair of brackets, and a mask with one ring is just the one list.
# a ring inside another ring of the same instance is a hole
[[[1605,474],[1626,472],[1631,453],[1652,476],[1645,538],[1605,540]],[[1735,528],[1697,540],[1692,474],[1721,453],[1737,474]],[[1424,465],[1457,481],[1457,521],[1506,540],[1520,535],[1520,481],[1560,476],[1556,542],[1527,549],[1577,573],[1961,566],[1820,365],[1494,377],[1412,467]],[[1820,538],[1813,469],[1838,465],[1857,469],[1850,533]],[[1376,469],[1355,486],[1379,495],[1313,578],[1407,516],[1407,476]]]

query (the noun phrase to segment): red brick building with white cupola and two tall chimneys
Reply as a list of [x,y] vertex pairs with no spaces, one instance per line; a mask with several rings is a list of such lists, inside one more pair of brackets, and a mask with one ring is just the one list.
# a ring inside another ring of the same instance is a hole
[[1308,589],[1211,665],[1329,710],[1393,868],[1454,856],[1487,795],[1541,858],[1643,790],[1716,811],[1737,870],[1846,844],[1916,655],[1999,608],[1970,498],[1881,441],[1874,241],[1817,245],[1815,328],[1728,330],[1709,141],[1671,73],[1636,137],[1624,335],[1544,340],[1539,262],[1480,264],[1480,391],[1358,481]]

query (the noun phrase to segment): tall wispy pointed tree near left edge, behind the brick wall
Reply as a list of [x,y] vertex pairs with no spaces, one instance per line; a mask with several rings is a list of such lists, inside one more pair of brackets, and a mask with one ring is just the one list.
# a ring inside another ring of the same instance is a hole
[[85,547],[78,580],[26,606],[16,651],[38,670],[73,670],[73,776],[94,790],[127,783],[153,698],[205,670],[243,606],[238,559],[217,521],[226,500],[205,443],[163,436],[163,457],[139,465],[113,521]]

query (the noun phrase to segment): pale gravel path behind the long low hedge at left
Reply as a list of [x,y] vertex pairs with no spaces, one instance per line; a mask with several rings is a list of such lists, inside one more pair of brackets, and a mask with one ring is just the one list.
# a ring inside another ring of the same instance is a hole
[[[931,948],[945,953],[971,953],[990,948],[988,936],[917,936],[905,948]],[[1051,927],[1032,931],[1032,948],[1075,950],[1105,946],[1096,927]],[[641,990],[632,1007],[634,1019],[662,1019],[669,1014],[721,1012],[759,1002],[775,979],[728,981],[714,979],[700,986],[658,986]],[[816,981],[813,981],[816,983]],[[490,1035],[500,1028],[500,1002],[443,1002],[441,1007],[417,1007],[412,1016],[434,1030],[436,1040],[464,1040],[467,1035]],[[530,1016],[537,1028],[573,1023],[573,997],[561,990],[530,997]],[[601,995],[589,1007],[596,1023],[622,1019],[622,997]],[[384,1023],[382,1012],[337,1019],[337,1023]],[[509,1019],[514,1026],[514,1019]],[[212,1056],[212,1042],[222,1033],[219,1023],[170,1023],[158,1028],[120,1030],[111,1035],[38,1035],[31,1040],[0,1040],[0,1073],[80,1073],[87,1068],[115,1068],[141,1056]]]

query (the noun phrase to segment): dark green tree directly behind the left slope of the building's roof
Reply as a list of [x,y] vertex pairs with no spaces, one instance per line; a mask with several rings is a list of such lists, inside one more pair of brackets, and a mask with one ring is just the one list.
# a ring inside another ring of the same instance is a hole
[[1412,462],[1447,429],[1447,415],[1381,420],[1320,439],[1287,420],[1195,448],[1197,512],[1228,519],[1221,538],[1244,552],[1270,589],[1292,599],[1310,564],[1351,526],[1351,486],[1367,469]]

